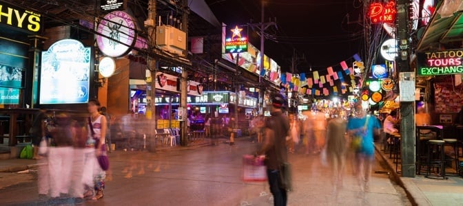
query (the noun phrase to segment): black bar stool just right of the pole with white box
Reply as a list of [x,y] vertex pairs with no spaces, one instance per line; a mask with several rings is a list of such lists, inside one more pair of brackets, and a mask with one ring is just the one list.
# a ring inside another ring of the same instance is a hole
[[[431,179],[447,179],[445,176],[444,140],[431,139],[428,141],[427,171],[424,177]],[[440,168],[440,173],[431,176],[431,167]]]

